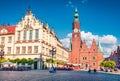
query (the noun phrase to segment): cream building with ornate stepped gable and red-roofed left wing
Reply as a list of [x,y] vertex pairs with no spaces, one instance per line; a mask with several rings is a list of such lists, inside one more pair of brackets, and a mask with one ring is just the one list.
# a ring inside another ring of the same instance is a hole
[[54,30],[50,30],[48,23],[44,26],[33,16],[30,9],[16,26],[0,27],[0,43],[6,59],[42,57],[43,61],[46,61],[51,58],[49,51],[54,48],[54,59],[68,62],[68,51],[62,46]]

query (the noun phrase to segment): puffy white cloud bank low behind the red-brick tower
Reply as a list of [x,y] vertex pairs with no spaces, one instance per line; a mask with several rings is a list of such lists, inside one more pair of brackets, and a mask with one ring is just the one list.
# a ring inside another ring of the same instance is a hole
[[[67,34],[66,38],[61,39],[63,46],[68,48],[70,44],[70,39],[72,38],[72,33]],[[94,35],[92,32],[81,31],[81,38],[85,40],[88,47],[91,46],[92,40],[95,39],[96,43],[98,40],[101,42],[105,56],[109,56],[112,51],[116,50],[117,38],[113,35]]]

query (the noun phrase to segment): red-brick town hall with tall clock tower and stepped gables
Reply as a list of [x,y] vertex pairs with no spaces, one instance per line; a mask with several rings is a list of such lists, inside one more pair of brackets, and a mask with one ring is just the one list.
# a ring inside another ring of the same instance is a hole
[[86,45],[86,41],[81,39],[80,21],[77,9],[75,10],[74,20],[72,23],[72,44],[69,50],[69,63],[80,68],[99,69],[100,63],[103,61],[103,51],[95,39],[92,41],[90,48]]

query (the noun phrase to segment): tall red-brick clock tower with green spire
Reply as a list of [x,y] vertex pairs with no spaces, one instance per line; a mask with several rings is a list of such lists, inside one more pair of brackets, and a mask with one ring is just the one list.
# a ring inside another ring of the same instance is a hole
[[74,64],[79,63],[79,53],[80,53],[80,22],[77,9],[75,9],[74,20],[72,23],[72,61]]

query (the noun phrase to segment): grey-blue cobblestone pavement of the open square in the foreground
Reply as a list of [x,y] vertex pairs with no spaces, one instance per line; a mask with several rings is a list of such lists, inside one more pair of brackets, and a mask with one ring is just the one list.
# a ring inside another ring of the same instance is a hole
[[0,81],[120,81],[120,74],[87,71],[0,71]]

